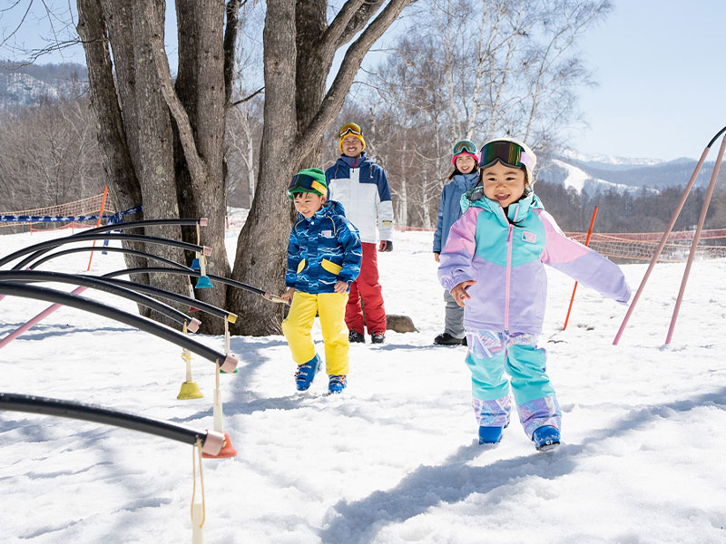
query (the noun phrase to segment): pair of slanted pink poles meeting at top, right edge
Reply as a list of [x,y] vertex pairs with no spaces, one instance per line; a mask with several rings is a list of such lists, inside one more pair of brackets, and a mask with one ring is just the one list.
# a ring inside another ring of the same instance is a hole
[[[630,316],[633,314],[633,310],[635,309],[635,304],[638,302],[638,299],[641,296],[641,293],[643,293],[643,288],[645,287],[645,283],[648,281],[648,277],[651,276],[651,272],[653,267],[655,267],[655,263],[658,260],[658,257],[661,256],[662,249],[665,247],[665,243],[668,240],[668,236],[671,234],[673,225],[675,225],[676,219],[678,219],[679,214],[681,213],[681,210],[683,209],[683,204],[685,204],[686,199],[688,198],[688,193],[691,191],[693,187],[693,183],[695,183],[696,178],[698,177],[699,172],[701,171],[701,167],[703,166],[703,162],[706,160],[706,157],[709,154],[709,151],[711,151],[711,145],[713,145],[713,142],[718,140],[721,134],[723,132],[726,132],[726,127],[723,127],[721,131],[719,131],[712,139],[709,141],[706,148],[701,153],[701,159],[699,159],[698,164],[696,164],[696,168],[693,170],[693,173],[691,175],[691,180],[688,181],[688,185],[686,185],[686,188],[683,189],[683,194],[681,196],[681,200],[678,202],[678,206],[676,206],[676,209],[673,211],[673,215],[671,217],[671,222],[668,223],[668,228],[665,229],[665,232],[663,232],[663,236],[661,238],[661,243],[658,245],[658,248],[655,249],[655,253],[652,256],[651,264],[648,266],[648,269],[645,271],[645,275],[643,276],[643,279],[641,280],[641,285],[638,287],[638,290],[635,292],[635,296],[633,296],[633,302],[631,302],[630,307],[628,308],[628,311],[625,313],[625,317],[623,317],[623,323],[620,325],[620,328],[618,329],[617,334],[615,335],[615,338],[613,339],[613,345],[617,345],[620,341],[621,335],[623,335],[623,331],[625,330],[625,326],[628,325],[628,320],[630,319]],[[692,257],[693,253],[695,251],[695,247],[698,244],[698,240],[701,237],[701,228],[702,228],[702,220],[705,219],[705,210],[708,209],[708,204],[711,200],[711,193],[713,190],[713,185],[716,180],[716,176],[718,175],[719,167],[721,165],[721,159],[723,158],[723,151],[724,151],[724,142],[726,142],[726,137],[724,137],[724,140],[721,141],[721,150],[719,151],[719,157],[716,161],[716,164],[713,167],[713,173],[711,174],[711,183],[709,184],[709,192],[707,195],[707,198],[703,202],[703,209],[701,209],[701,219],[699,219],[699,228],[696,231],[696,235],[693,237],[693,243],[691,246],[691,254],[689,255],[689,261],[688,265],[686,267],[686,271],[683,273],[683,280],[682,280],[682,286],[681,286],[681,293],[679,294],[679,300],[676,304],[676,307],[673,312],[673,317],[671,321],[671,327],[668,332],[668,336],[666,337],[666,344],[669,344],[671,342],[671,336],[672,336],[672,329],[675,326],[675,319],[678,316],[678,310],[681,307],[681,297],[683,290],[685,289],[685,282],[688,278],[688,272],[691,268],[692,263]]]

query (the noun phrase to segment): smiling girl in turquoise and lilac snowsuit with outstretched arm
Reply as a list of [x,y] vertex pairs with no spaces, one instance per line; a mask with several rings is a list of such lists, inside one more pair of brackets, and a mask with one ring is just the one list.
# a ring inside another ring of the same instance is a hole
[[[591,248],[566,238],[532,191],[535,154],[500,138],[480,151],[481,184],[462,197],[464,215],[441,252],[441,285],[464,306],[479,443],[496,443],[509,424],[509,391],[537,450],[560,442],[562,413],[546,370],[542,331],[544,265],[626,304],[623,272]],[[507,374],[507,375],[505,375]]]

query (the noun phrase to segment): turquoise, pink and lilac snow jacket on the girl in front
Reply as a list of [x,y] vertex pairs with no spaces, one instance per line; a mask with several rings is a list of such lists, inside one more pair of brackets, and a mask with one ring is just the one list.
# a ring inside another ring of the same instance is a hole
[[531,193],[504,209],[483,197],[461,198],[464,215],[452,226],[441,252],[438,279],[448,291],[466,280],[464,325],[509,333],[542,332],[547,276],[544,265],[564,272],[584,287],[627,303],[623,272],[596,251],[564,236]]

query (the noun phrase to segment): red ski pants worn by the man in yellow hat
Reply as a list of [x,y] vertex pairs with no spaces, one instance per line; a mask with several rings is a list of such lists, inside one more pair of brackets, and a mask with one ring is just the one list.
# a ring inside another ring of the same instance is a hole
[[[360,264],[358,279],[350,284],[348,306],[346,306],[346,325],[351,331],[368,335],[386,332],[386,309],[383,307],[383,296],[378,283],[378,256],[376,244],[364,242],[363,262]],[[363,307],[360,299],[363,299]],[[364,317],[365,312],[365,317]]]

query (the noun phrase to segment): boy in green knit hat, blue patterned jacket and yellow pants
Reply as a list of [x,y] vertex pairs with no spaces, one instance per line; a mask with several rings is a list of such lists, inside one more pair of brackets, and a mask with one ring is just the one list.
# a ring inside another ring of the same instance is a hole
[[322,364],[310,335],[318,314],[328,390],[340,393],[348,384],[348,287],[358,277],[362,258],[358,229],[345,218],[338,202],[328,200],[322,170],[300,170],[290,181],[288,196],[295,203],[298,220],[289,235],[288,289],[281,297],[292,304],[282,332],[298,364],[295,383],[298,391],[307,391]]

